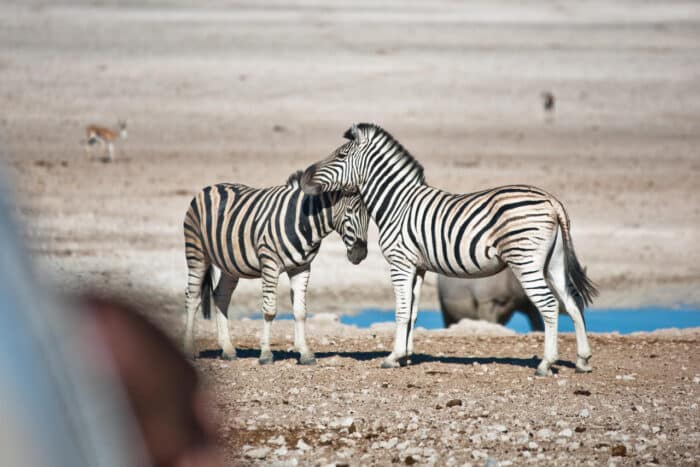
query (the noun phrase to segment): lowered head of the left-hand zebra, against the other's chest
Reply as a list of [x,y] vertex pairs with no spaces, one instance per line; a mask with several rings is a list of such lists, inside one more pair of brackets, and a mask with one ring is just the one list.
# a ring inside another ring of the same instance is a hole
[[367,257],[369,213],[359,194],[338,194],[340,199],[333,206],[333,228],[345,243],[348,260],[359,264]]

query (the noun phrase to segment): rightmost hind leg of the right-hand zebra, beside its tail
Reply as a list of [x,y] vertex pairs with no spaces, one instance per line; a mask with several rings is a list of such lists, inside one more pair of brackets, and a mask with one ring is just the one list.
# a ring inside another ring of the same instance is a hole
[[566,264],[561,235],[557,236],[547,272],[554,292],[559,296],[564,309],[574,322],[574,331],[576,332],[576,371],[579,373],[590,373],[593,371],[593,368],[588,364],[592,355],[591,347],[588,344],[582,310],[579,309],[576,300],[571,296],[566,285]]

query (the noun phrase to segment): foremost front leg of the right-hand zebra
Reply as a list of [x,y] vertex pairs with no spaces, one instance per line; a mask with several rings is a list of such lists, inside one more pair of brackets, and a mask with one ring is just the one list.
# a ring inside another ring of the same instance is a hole
[[396,295],[396,333],[394,350],[382,362],[382,368],[397,368],[406,363],[408,347],[408,323],[413,307],[413,286],[416,269],[413,266],[391,265],[391,282]]

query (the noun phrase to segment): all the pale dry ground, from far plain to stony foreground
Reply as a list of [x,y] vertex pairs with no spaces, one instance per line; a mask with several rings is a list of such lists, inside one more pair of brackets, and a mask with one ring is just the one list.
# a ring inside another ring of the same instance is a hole
[[[131,297],[179,338],[181,221],[196,190],[281,184],[372,121],[433,185],[555,194],[596,307],[700,304],[698,3],[264,5],[0,2],[4,178],[60,290]],[[129,138],[116,161],[87,156],[84,126],[118,118]],[[329,237],[313,271],[312,313],[392,307],[374,230],[360,266]],[[259,287],[241,284],[234,316],[255,312]],[[280,297],[289,310],[286,281]],[[422,308],[437,306],[429,275]],[[287,352],[289,322],[273,328],[271,366],[258,366],[248,320],[231,323],[243,358],[197,360],[229,463],[700,462],[697,331],[594,335],[589,375],[573,372],[564,335],[558,374],[538,379],[541,334],[419,331],[414,365],[387,371],[390,328],[322,318],[309,329],[315,367]],[[199,333],[215,357],[211,323]]]

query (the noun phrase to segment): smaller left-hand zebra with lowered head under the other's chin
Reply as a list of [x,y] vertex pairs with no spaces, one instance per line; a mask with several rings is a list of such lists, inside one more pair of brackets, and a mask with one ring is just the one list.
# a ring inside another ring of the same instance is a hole
[[294,346],[299,363],[315,363],[306,343],[306,288],[311,262],[321,240],[333,230],[347,249],[347,257],[359,264],[367,256],[369,213],[358,194],[343,191],[304,194],[302,172],[292,174],[286,185],[258,189],[221,183],[203,188],[185,214],[185,256],[188,279],[185,353],[195,357],[194,316],[202,309],[210,318],[213,288],[212,266],[221,271],[213,292],[218,343],[222,358],[235,359],[236,349],[228,331],[228,305],[240,278],[262,278],[263,332],[261,364],[272,363],[270,327],[277,313],[277,281],[286,272],[294,310]]

